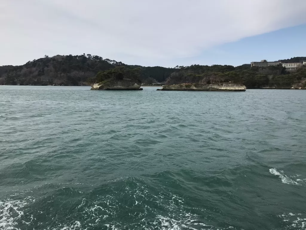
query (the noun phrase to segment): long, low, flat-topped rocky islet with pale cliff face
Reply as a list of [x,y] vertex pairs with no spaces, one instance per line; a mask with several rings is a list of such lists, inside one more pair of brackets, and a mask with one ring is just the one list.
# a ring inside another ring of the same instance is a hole
[[199,83],[183,83],[177,85],[164,85],[163,91],[245,91],[246,87],[235,83],[217,83],[217,84],[199,84]]

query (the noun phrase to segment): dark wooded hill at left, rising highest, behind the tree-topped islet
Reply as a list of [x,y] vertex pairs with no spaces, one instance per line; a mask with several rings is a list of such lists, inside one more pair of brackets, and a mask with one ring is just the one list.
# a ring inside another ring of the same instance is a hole
[[117,66],[140,67],[140,80],[147,84],[164,82],[174,71],[165,67],[129,66],[100,56],[57,55],[45,56],[21,66],[1,66],[0,85],[66,85],[78,86],[92,83],[99,71]]

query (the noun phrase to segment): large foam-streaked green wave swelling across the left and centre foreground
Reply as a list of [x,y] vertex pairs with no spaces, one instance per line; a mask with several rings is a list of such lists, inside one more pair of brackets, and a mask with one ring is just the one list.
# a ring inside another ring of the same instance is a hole
[[12,197],[0,202],[0,229],[233,228],[217,228],[208,224],[208,210],[190,205],[183,195],[158,190],[144,179],[119,178],[91,187],[87,192],[80,186],[67,185],[72,186],[70,183],[44,185],[41,190],[47,192],[47,196],[37,197],[36,201],[33,197],[23,200],[13,200]]

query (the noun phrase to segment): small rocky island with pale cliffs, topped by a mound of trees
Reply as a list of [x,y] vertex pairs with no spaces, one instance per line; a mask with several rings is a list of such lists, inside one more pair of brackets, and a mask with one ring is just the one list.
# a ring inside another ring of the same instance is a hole
[[140,69],[116,67],[107,71],[98,72],[91,90],[143,90],[140,88]]

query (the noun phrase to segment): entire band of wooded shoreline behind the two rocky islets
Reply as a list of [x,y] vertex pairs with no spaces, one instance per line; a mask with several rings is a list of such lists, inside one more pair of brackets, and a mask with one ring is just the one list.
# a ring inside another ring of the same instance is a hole
[[[294,57],[281,61],[293,63],[303,60],[306,60],[306,57]],[[21,66],[1,66],[0,85],[88,85],[99,81],[104,71],[116,67],[122,67],[125,72],[137,69],[137,78],[146,85],[158,82],[163,84],[233,82],[244,84],[247,88],[306,86],[306,67],[294,72],[286,71],[281,65],[265,68],[251,68],[250,64],[237,67],[230,65],[143,67],[126,65],[90,54],[45,56]]]

